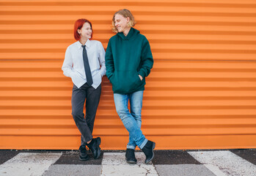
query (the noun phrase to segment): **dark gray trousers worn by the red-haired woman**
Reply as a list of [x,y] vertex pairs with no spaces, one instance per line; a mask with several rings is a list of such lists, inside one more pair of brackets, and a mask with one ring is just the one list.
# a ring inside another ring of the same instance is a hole
[[[101,84],[97,89],[84,84],[79,89],[73,85],[72,89],[72,115],[76,126],[81,133],[81,145],[92,140],[92,130],[95,114],[100,102]],[[86,115],[84,117],[84,102],[86,100]]]

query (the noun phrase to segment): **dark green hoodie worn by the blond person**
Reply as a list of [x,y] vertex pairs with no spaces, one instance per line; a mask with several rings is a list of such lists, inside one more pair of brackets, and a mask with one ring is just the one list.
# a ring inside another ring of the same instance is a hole
[[145,77],[153,67],[153,56],[150,43],[138,30],[131,28],[126,37],[122,32],[111,37],[105,59],[106,76],[114,93],[128,94],[145,89]]

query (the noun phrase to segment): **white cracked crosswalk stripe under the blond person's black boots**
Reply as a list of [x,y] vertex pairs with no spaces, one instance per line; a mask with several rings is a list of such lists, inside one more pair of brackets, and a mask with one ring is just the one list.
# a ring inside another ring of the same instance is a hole
[[158,176],[152,164],[144,164],[145,155],[135,153],[137,164],[127,164],[125,153],[104,153],[102,160],[101,176]]

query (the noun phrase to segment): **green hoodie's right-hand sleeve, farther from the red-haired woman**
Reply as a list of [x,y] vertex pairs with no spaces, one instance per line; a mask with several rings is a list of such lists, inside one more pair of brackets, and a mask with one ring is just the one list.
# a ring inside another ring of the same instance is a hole
[[150,43],[147,41],[146,37],[142,44],[141,59],[142,59],[141,67],[138,73],[140,76],[142,76],[142,78],[145,78],[150,74],[150,69],[153,67],[153,62],[154,62],[151,49],[150,49]]

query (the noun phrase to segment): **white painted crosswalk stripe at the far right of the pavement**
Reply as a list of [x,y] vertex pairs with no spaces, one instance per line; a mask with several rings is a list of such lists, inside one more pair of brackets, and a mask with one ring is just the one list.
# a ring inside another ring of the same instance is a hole
[[[189,154],[201,164],[205,164],[217,176],[256,175],[256,166],[254,164],[230,151],[199,151],[189,152]],[[219,168],[222,172],[216,168]]]

